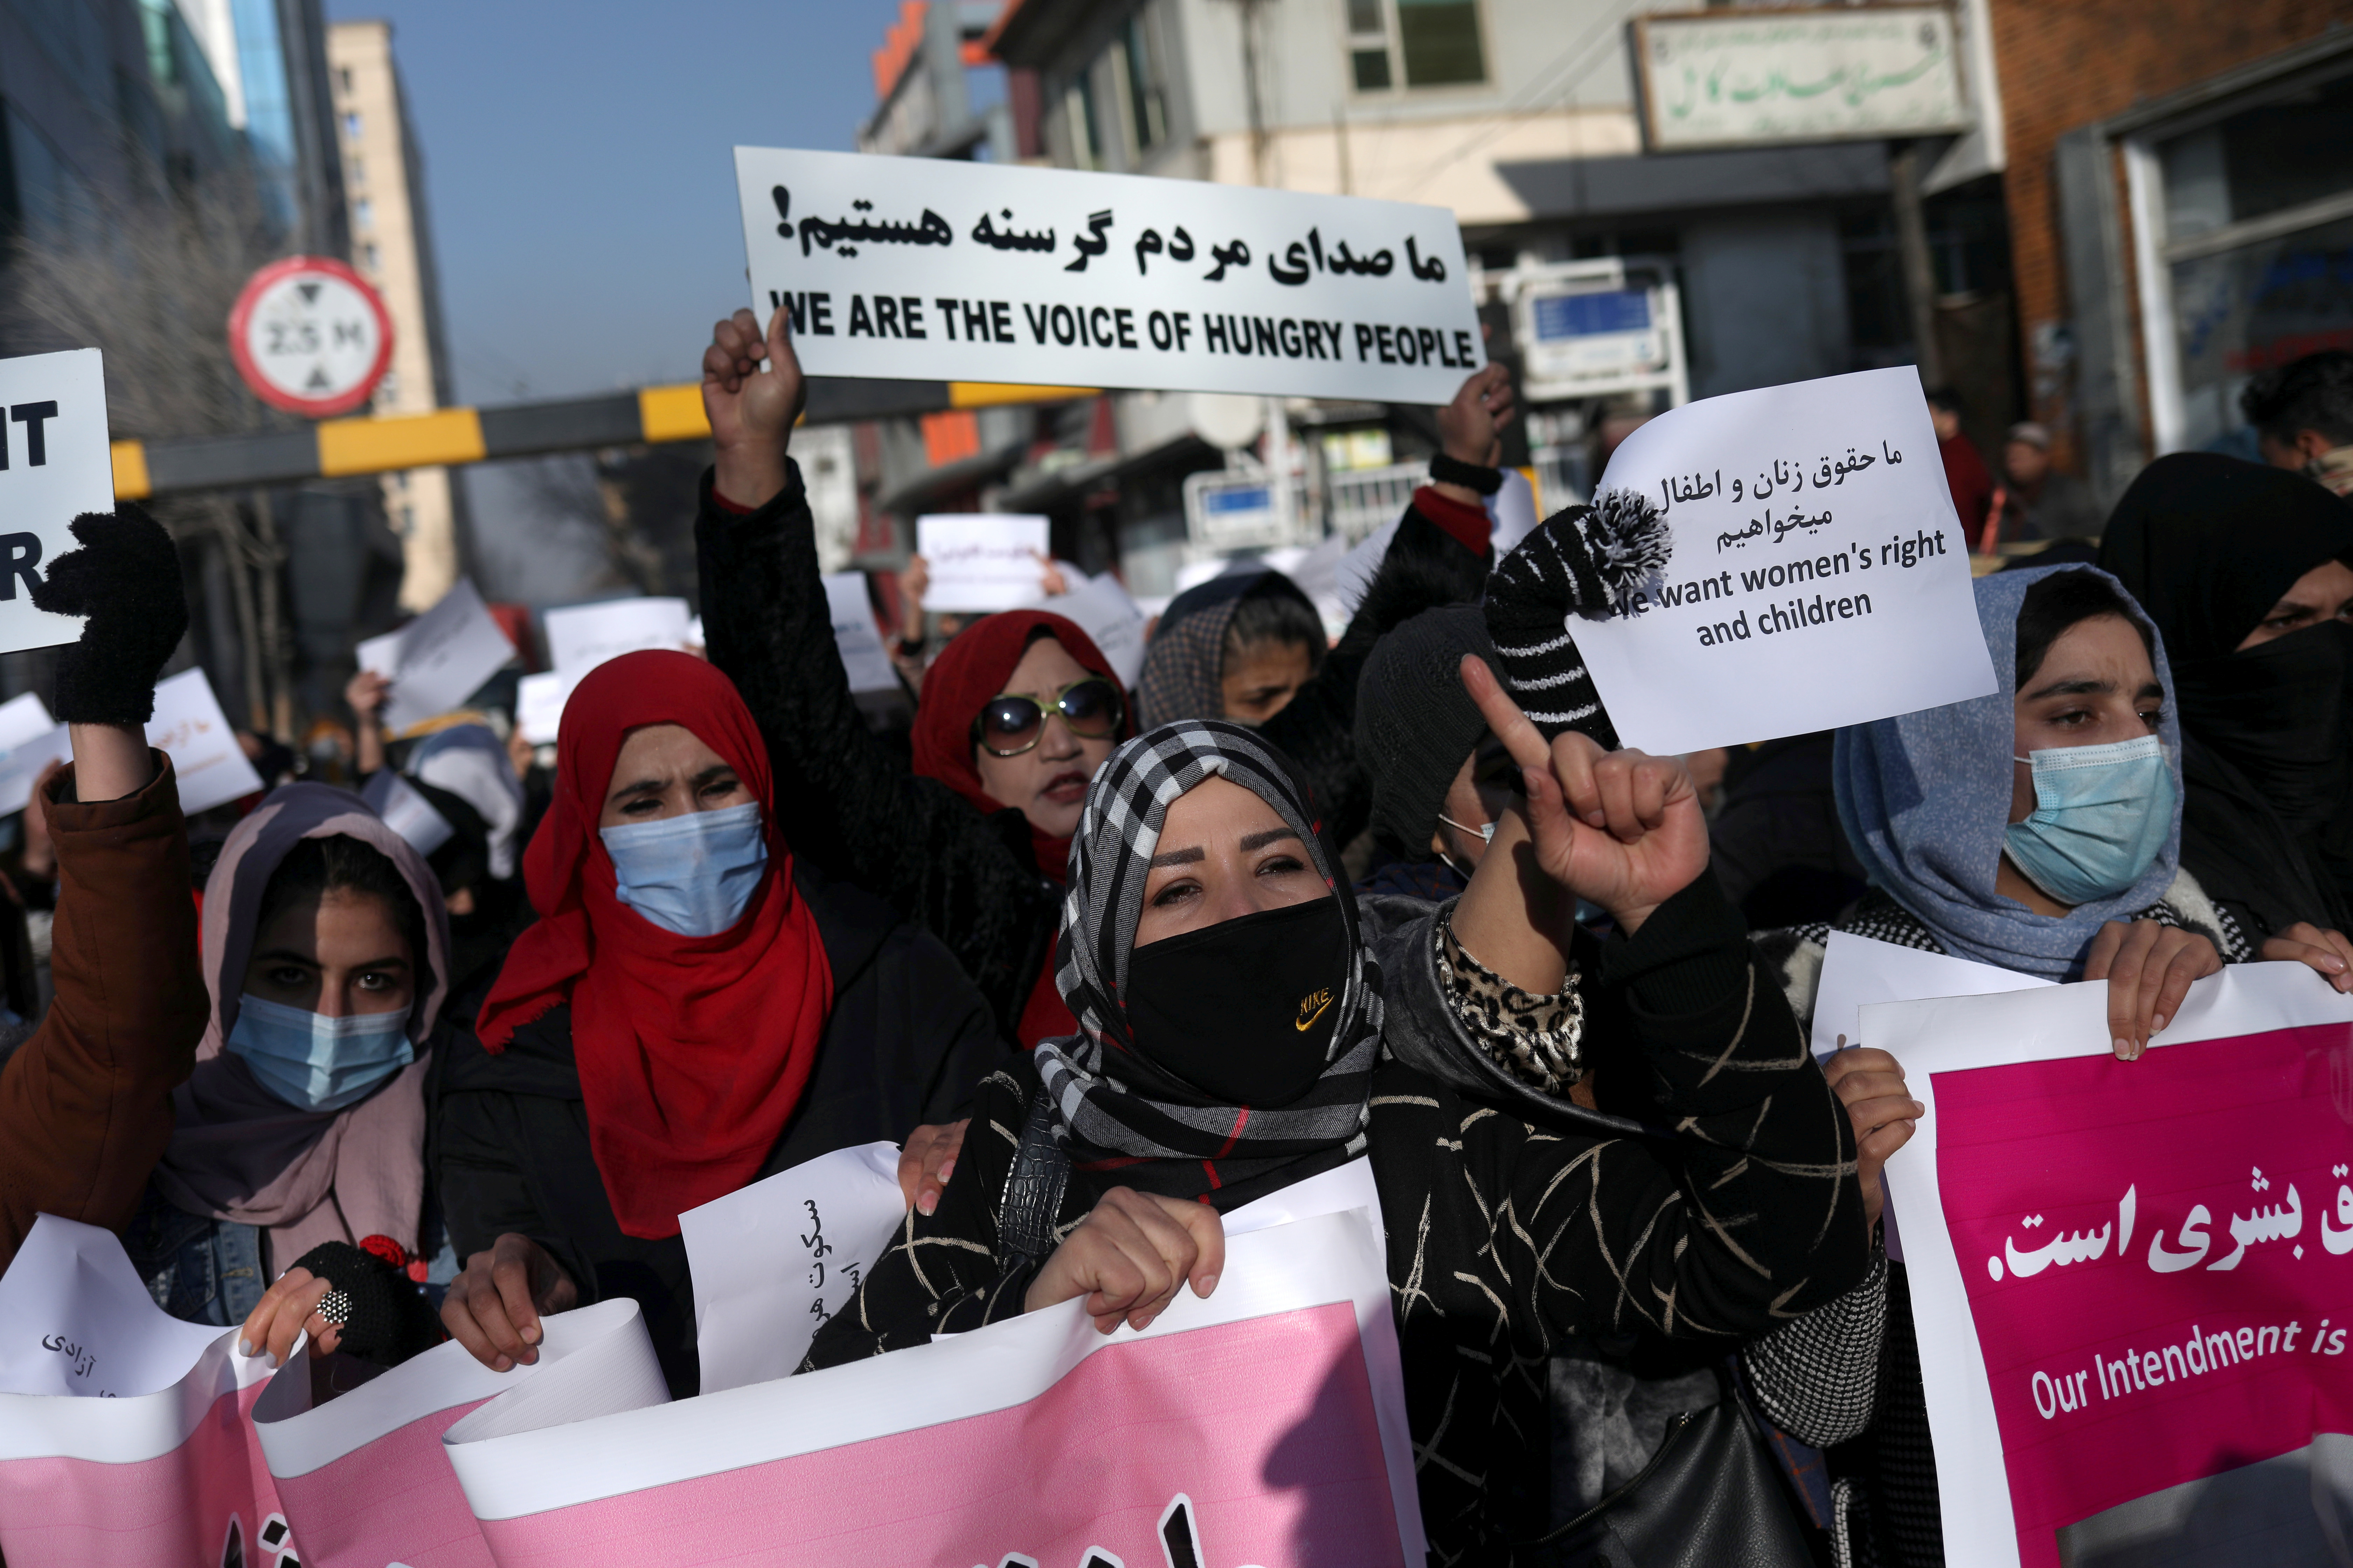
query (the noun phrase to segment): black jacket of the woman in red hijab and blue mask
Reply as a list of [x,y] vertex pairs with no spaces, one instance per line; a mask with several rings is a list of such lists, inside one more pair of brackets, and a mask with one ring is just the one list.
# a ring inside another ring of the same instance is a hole
[[[816,1070],[760,1175],[833,1150],[953,1121],[1005,1060],[988,1004],[932,936],[854,886],[798,875],[833,966],[833,1013]],[[459,1258],[506,1232],[529,1237],[572,1274],[581,1305],[633,1295],[671,1394],[701,1385],[694,1288],[678,1237],[621,1234],[588,1150],[588,1112],[560,1006],[492,1056],[473,1034],[480,994],[456,1009],[428,1081],[431,1164]]]

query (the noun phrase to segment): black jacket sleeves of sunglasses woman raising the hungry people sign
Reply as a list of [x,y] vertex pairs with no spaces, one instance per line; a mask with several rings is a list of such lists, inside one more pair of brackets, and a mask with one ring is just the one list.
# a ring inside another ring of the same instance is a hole
[[[793,853],[873,889],[948,943],[1005,1039],[1016,1039],[1061,924],[1061,889],[1038,872],[1019,811],[974,811],[936,778],[911,773],[866,729],[833,644],[800,465],[755,512],[713,505],[706,473],[694,543],[711,663],[760,724]],[[1372,642],[1433,604],[1478,597],[1482,578],[1480,557],[1407,508],[1348,635],[1266,722],[1261,733],[1306,769],[1339,844],[1372,816],[1372,785],[1351,741],[1355,677]]]

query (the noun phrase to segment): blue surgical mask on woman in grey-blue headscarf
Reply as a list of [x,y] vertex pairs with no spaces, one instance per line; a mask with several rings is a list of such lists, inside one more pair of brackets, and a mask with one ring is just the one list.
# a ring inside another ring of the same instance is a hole
[[2139,882],[2174,827],[2174,771],[2155,736],[2014,757],[2035,771],[2035,809],[2007,832],[2009,858],[2064,905]]

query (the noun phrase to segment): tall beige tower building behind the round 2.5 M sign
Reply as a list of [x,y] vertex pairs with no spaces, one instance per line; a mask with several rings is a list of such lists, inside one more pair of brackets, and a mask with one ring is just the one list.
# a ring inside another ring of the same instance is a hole
[[[393,317],[393,364],[376,414],[428,414],[449,402],[440,275],[426,207],[424,158],[393,61],[393,24],[327,28],[327,75],[351,219],[351,261]],[[384,475],[384,512],[400,536],[402,609],[431,609],[459,576],[459,494],[447,468]]]

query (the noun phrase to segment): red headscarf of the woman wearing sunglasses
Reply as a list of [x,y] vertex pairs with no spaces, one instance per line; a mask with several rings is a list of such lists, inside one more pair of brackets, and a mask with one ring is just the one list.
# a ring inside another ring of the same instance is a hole
[[[1040,630],[1052,635],[1082,670],[1101,675],[1113,686],[1120,684],[1111,661],[1104,658],[1087,632],[1042,609],[1002,611],[972,623],[939,651],[939,658],[922,675],[922,701],[915,705],[915,731],[911,736],[915,771],[948,785],[984,813],[1005,811],[1005,802],[981,785],[981,771],[972,764],[972,722],[988,698],[1005,691],[1014,665],[1021,663],[1028,644],[1035,642],[1033,632]],[[1132,708],[1125,691],[1120,691],[1120,738],[1125,741],[1136,733],[1134,712],[1125,712]],[[1071,867],[1071,839],[1049,837],[1031,823],[1031,851],[1038,856],[1038,870],[1052,877],[1054,886],[1061,886]],[[1075,1032],[1078,1018],[1071,1016],[1071,1009],[1061,1001],[1061,992],[1054,987],[1054,950],[1049,947],[1045,969],[1031,987],[1028,1004],[1021,1009],[1021,1044],[1035,1046],[1040,1039]]]

